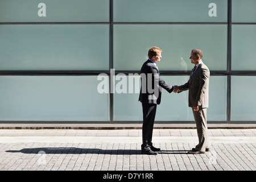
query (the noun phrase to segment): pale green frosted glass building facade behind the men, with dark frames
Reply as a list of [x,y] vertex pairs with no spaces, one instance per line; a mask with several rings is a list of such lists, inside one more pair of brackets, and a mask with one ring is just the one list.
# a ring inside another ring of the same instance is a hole
[[[210,69],[209,123],[256,123],[255,0],[1,0],[0,123],[141,123],[150,47],[171,85],[191,50]],[[157,123],[191,123],[188,92],[163,90]]]

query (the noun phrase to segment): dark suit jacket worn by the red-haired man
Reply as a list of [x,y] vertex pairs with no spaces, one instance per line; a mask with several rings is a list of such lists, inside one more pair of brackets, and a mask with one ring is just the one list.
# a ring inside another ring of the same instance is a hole
[[174,87],[160,77],[158,68],[152,61],[147,60],[141,68],[141,92],[139,101],[146,104],[160,104],[162,88],[171,93]]

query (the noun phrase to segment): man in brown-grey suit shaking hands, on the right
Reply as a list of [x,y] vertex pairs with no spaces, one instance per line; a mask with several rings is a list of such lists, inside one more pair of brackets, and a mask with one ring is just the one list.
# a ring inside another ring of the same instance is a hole
[[196,121],[197,135],[199,144],[188,154],[204,154],[209,151],[208,146],[208,129],[207,129],[207,107],[209,100],[209,78],[210,71],[208,67],[201,60],[203,52],[200,49],[193,49],[191,51],[191,63],[195,64],[189,80],[181,86],[175,85],[175,93],[189,90],[188,106],[192,107],[193,115]]

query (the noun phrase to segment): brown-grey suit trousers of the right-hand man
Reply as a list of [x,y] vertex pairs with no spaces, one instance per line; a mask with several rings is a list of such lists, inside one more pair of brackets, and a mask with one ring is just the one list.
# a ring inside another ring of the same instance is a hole
[[200,109],[199,111],[193,110],[193,115],[196,121],[196,129],[197,129],[197,135],[199,139],[199,144],[197,144],[196,150],[205,152],[205,148],[209,148],[208,128],[207,128],[207,108]]

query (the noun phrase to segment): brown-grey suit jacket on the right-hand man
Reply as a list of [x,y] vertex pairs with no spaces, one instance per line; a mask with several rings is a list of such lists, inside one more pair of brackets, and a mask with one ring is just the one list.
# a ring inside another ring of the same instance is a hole
[[[209,78],[210,71],[202,62],[196,71],[189,77],[184,85],[179,86],[180,92],[189,90],[188,106],[201,106],[201,108],[209,107]],[[179,92],[179,93],[180,93]]]

